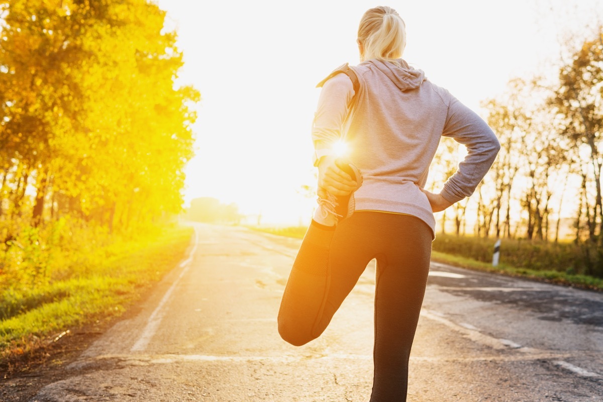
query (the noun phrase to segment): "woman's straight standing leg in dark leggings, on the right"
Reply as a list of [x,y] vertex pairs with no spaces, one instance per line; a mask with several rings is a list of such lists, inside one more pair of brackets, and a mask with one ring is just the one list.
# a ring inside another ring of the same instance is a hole
[[414,216],[384,224],[377,256],[371,402],[406,401],[408,359],[429,273],[431,229]]

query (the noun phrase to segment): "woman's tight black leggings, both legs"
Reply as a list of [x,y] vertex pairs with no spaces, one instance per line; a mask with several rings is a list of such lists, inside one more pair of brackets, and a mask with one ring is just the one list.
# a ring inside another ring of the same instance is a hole
[[293,345],[320,336],[376,259],[371,402],[406,401],[431,242],[428,225],[410,215],[358,211],[334,230],[312,222],[283,294],[280,335]]

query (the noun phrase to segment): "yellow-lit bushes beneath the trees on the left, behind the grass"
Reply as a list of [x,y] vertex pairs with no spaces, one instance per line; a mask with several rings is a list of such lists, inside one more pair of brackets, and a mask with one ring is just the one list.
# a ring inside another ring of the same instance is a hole
[[115,259],[144,248],[165,228],[149,227],[130,238],[62,218],[14,231],[0,242],[0,320],[85,291],[95,278],[119,277],[124,273]]

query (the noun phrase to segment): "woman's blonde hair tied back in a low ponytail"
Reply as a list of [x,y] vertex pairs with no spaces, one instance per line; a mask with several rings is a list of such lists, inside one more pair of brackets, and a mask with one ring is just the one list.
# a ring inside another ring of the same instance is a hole
[[371,8],[360,20],[358,41],[364,49],[361,61],[402,58],[406,47],[406,24],[391,7],[380,5]]

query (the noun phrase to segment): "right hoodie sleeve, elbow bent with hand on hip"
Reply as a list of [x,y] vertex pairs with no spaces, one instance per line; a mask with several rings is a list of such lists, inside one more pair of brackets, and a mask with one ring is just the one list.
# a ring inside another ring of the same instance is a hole
[[450,102],[442,135],[452,137],[467,148],[467,156],[441,191],[444,198],[456,203],[473,194],[496,159],[500,143],[482,118],[450,93],[447,95]]

